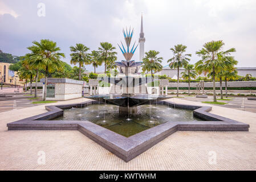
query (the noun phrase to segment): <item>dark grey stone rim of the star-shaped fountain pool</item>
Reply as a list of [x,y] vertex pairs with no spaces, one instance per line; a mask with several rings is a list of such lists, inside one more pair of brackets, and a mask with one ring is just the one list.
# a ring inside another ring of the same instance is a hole
[[166,122],[126,138],[90,121],[47,120],[63,115],[63,109],[96,103],[98,102],[86,101],[80,104],[46,106],[47,113],[7,123],[7,127],[8,130],[78,130],[125,162],[129,162],[176,131],[249,131],[250,127],[246,123],[208,113],[212,110],[209,106],[175,104],[170,101],[160,101],[158,104],[193,110],[196,117],[207,121]]

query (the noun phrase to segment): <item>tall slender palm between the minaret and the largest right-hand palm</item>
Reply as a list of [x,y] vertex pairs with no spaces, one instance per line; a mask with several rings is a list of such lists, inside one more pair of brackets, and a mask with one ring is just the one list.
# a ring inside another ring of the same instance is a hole
[[180,77],[180,68],[185,67],[188,64],[188,61],[191,57],[191,54],[185,54],[186,52],[186,46],[182,44],[178,44],[177,46],[174,46],[174,48],[170,48],[170,50],[173,52],[173,57],[169,59],[167,62],[169,64],[170,68],[176,68],[178,70],[178,76],[177,76],[177,97],[178,97],[178,82]]

